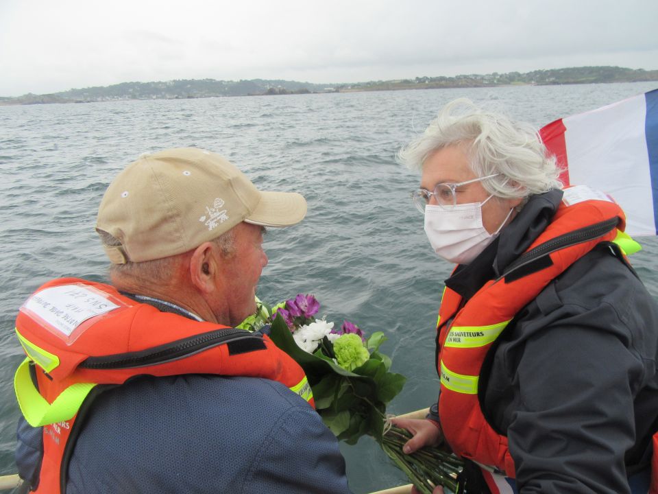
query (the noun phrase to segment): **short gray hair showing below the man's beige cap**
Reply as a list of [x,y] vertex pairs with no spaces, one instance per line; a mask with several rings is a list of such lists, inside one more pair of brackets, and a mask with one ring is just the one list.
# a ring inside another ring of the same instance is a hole
[[[96,230],[101,237],[101,242],[106,246],[120,246],[121,240],[106,231]],[[235,232],[233,228],[222,233],[219,237],[212,239],[210,242],[215,244],[224,257],[231,257],[235,253]],[[147,280],[154,283],[167,283],[171,280],[176,268],[185,254],[178,254],[162,259],[152,259],[151,261],[133,262],[127,261],[125,264],[111,264],[110,277],[117,275],[119,277],[129,277],[132,279]]]

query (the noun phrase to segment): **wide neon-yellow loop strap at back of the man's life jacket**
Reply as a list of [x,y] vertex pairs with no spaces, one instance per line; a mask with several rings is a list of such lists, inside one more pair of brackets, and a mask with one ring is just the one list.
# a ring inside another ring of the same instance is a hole
[[14,375],[14,392],[19,401],[23,416],[32,427],[40,427],[72,419],[91,389],[93,383],[78,383],[69,386],[53,401],[48,403],[34,387],[29,375],[29,358],[16,370]]

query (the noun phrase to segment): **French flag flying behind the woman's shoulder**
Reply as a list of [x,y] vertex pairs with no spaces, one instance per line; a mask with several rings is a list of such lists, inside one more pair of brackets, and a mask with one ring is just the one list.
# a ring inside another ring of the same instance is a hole
[[629,235],[658,234],[658,89],[539,130],[564,185],[587,185],[626,213]]

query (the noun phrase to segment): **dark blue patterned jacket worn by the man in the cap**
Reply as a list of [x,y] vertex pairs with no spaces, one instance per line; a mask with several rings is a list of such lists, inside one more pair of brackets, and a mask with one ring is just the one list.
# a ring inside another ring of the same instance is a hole
[[[16,463],[38,469],[21,418]],[[69,464],[67,494],[349,493],[336,438],[283,384],[252,377],[138,377],[103,392]]]

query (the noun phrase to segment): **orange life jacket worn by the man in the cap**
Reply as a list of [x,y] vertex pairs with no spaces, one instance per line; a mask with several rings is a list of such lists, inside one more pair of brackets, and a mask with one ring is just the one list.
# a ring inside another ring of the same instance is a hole
[[313,406],[304,371],[267,336],[165,313],[110,285],[42,285],[21,307],[16,333],[27,353],[16,371],[16,397],[28,423],[43,430],[39,494],[66,490],[76,419],[107,388],[96,385],[139,375],[262,377]]

